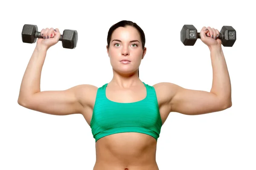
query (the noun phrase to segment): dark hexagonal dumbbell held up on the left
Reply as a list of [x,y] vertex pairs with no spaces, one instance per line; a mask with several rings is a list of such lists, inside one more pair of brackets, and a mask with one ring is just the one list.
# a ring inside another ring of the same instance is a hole
[[[22,41],[25,43],[35,43],[37,38],[44,38],[41,36],[41,32],[38,32],[36,25],[25,24],[22,29]],[[76,48],[78,40],[78,34],[76,30],[65,29],[61,35],[59,41],[62,42],[63,48],[73,49]]]

